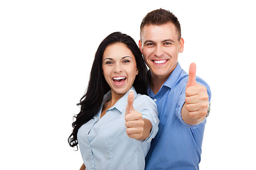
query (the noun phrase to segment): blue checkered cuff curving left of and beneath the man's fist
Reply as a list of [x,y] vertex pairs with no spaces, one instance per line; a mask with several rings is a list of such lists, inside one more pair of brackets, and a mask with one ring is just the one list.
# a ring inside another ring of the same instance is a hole
[[185,93],[182,93],[180,96],[179,96],[179,99],[178,99],[178,102],[177,102],[177,107],[176,107],[176,110],[175,110],[175,114],[176,116],[178,117],[178,119],[182,122],[182,124],[184,126],[186,126],[187,128],[197,128],[198,126],[200,126],[202,123],[205,123],[206,121],[206,118],[205,120],[203,120],[201,123],[197,124],[197,125],[189,125],[187,124],[186,122],[184,122],[184,120],[182,119],[182,115],[181,115],[181,111],[182,111],[182,107],[185,103],[185,98],[186,98],[186,95]]

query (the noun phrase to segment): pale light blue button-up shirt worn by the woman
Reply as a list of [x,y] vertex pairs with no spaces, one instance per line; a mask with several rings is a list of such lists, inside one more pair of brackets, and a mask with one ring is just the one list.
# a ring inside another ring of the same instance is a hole
[[77,132],[86,170],[144,170],[151,139],[158,131],[158,112],[150,97],[137,94],[134,87],[131,90],[134,91],[133,108],[152,123],[150,135],[139,141],[126,134],[124,116],[129,91],[100,118],[103,104],[111,98],[111,91],[107,92],[100,110]]

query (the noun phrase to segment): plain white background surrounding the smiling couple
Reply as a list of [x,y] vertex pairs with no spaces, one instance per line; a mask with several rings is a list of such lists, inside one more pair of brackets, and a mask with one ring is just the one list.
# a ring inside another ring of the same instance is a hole
[[[139,40],[157,8],[179,18],[185,71],[211,87],[200,169],[255,169],[255,5],[251,1],[0,2],[1,170],[78,170],[72,116],[100,42],[121,31]],[[95,82],[97,83],[97,82]]]

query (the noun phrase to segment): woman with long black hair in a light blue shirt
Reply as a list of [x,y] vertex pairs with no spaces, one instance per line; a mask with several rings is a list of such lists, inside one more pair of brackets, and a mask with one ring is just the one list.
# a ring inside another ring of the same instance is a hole
[[121,32],[108,35],[95,54],[69,136],[70,146],[79,144],[81,169],[144,169],[159,124],[147,86],[147,68],[134,40]]

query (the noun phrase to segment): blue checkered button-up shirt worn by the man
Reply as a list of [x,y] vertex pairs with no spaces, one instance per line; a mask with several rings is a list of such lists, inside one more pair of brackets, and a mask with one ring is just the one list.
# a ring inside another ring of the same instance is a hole
[[[198,125],[182,120],[187,80],[188,74],[178,62],[156,95],[148,86],[148,95],[156,102],[160,123],[145,158],[145,170],[199,169],[206,119]],[[210,101],[210,87],[200,77],[196,76],[196,81],[207,88]]]

